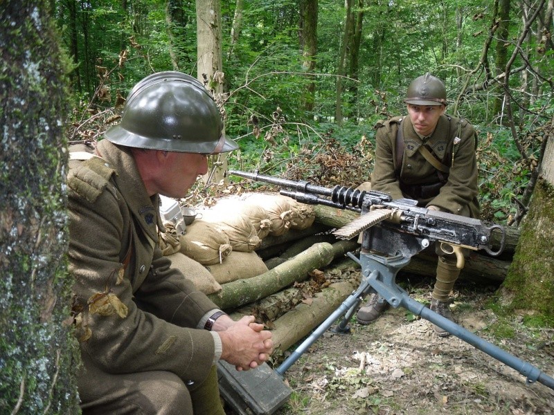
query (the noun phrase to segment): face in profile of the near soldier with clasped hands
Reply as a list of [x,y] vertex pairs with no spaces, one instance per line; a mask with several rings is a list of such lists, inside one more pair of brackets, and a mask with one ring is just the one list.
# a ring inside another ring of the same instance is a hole
[[195,153],[165,154],[163,173],[158,179],[159,193],[173,198],[182,198],[195,183],[198,176],[208,172],[208,156]]

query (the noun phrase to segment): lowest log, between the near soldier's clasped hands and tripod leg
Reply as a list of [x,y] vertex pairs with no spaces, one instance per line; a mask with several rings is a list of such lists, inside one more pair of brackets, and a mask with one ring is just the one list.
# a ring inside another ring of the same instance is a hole
[[310,334],[333,311],[339,308],[355,288],[348,281],[336,282],[317,293],[312,304],[298,304],[294,310],[275,320],[275,329],[272,331],[274,356],[279,356],[283,351]]

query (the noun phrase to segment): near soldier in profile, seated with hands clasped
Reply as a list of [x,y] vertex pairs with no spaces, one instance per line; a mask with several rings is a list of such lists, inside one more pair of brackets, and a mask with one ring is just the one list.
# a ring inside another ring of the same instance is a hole
[[70,148],[83,414],[224,415],[217,360],[248,370],[269,358],[271,333],[253,316],[233,322],[159,247],[159,195],[184,197],[208,154],[238,148],[222,127],[200,82],[161,72],[134,86],[105,139]]

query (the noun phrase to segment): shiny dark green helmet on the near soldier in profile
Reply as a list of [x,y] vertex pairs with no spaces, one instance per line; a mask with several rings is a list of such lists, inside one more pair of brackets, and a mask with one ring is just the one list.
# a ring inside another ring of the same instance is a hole
[[204,85],[175,71],[136,84],[121,122],[105,133],[114,144],[181,153],[217,154],[238,149],[222,133],[220,110]]

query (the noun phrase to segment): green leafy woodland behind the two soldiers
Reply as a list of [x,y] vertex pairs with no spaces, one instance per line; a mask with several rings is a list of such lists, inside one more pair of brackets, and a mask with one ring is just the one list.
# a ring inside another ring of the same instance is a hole
[[[240,143],[233,167],[359,181],[370,171],[375,122],[404,113],[409,82],[429,71],[445,81],[448,112],[479,129],[485,217],[512,223],[528,204],[554,111],[551,0],[63,0],[51,7],[74,66],[71,140],[99,138],[136,82],[175,70],[205,80],[222,103],[226,133]],[[199,68],[202,44],[221,55],[208,70]],[[359,156],[360,172],[303,163],[301,153],[317,153],[328,138]]]

